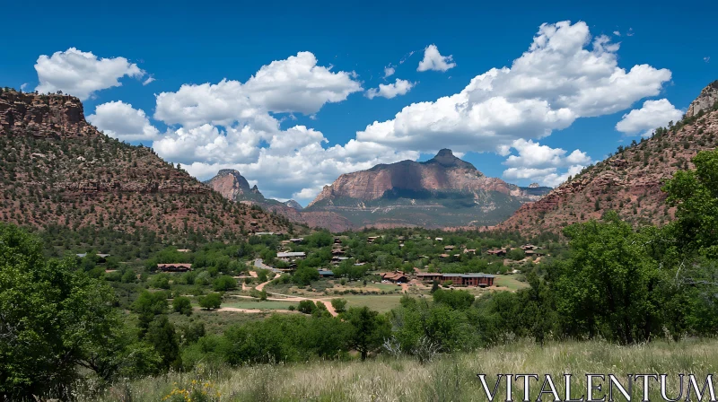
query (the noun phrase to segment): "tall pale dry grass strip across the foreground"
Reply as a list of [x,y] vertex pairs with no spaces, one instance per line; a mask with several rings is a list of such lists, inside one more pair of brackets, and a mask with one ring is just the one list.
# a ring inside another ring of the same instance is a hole
[[[538,373],[541,381],[542,375],[549,373],[562,398],[564,373],[578,377],[572,387],[575,397],[585,393],[586,373],[614,373],[624,379],[629,373],[669,374],[669,396],[675,398],[679,373],[695,373],[705,380],[705,375],[715,373],[716,368],[718,340],[714,339],[631,346],[600,341],[556,342],[543,347],[520,341],[440,356],[425,364],[408,356],[380,356],[363,363],[309,362],[220,370],[198,367],[192,372],[120,381],[100,395],[88,394],[80,400],[159,401],[172,389],[187,388],[196,380],[211,381],[213,392],[220,395],[212,400],[221,401],[486,401],[477,373],[488,374],[491,381],[496,373]],[[523,398],[520,382],[514,382],[514,400]],[[493,382],[490,384],[493,388]],[[532,400],[536,400],[539,389],[540,384],[535,382],[530,386]],[[633,400],[641,399],[641,389],[640,383],[635,384]],[[503,387],[499,392],[503,400]],[[660,395],[659,387],[653,383],[651,400],[662,400]],[[682,399],[685,398],[684,393]],[[544,396],[544,400],[551,398]]]

